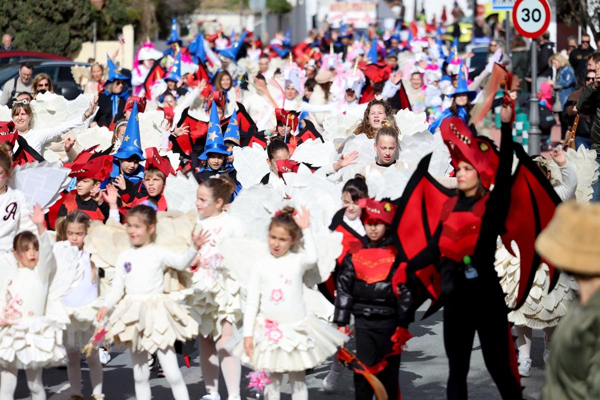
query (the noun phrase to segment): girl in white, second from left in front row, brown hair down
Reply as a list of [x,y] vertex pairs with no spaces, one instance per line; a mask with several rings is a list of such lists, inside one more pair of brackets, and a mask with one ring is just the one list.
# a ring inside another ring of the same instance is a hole
[[[64,343],[67,349],[67,375],[71,386],[67,400],[83,400],[81,392],[81,350],[94,336],[96,314],[100,303],[98,300],[98,269],[90,261],[89,253],[83,251],[83,240],[88,233],[89,215],[75,210],[56,222],[56,243],[54,251],[68,252],[76,249],[76,262],[81,270],[81,278],[62,298],[67,308],[70,324],[64,332]],[[89,367],[89,379],[92,384],[93,400],[104,399],[102,394],[102,364],[98,350],[92,350],[86,356]]]

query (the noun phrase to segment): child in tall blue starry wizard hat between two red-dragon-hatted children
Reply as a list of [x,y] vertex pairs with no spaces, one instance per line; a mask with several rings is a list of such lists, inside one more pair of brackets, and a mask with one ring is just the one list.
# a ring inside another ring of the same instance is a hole
[[110,181],[119,189],[119,194],[127,193],[133,185],[144,178],[144,167],[140,161],[146,160],[140,140],[140,125],[137,117],[137,101],[123,134],[121,147],[113,154],[113,170]]

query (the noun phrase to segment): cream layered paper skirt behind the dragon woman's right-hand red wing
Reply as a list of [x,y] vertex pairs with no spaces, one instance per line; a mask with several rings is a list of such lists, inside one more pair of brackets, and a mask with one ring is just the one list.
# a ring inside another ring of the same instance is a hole
[[[513,246],[513,251],[518,255],[516,246]],[[496,249],[495,267],[500,277],[502,290],[506,294],[506,305],[513,308],[517,302],[521,273],[520,260],[513,257],[505,246],[500,245]],[[525,303],[521,308],[509,312],[508,320],[516,326],[527,326],[532,329],[556,326],[576,296],[577,284],[571,276],[560,273],[559,281],[550,293],[548,293],[549,287],[550,270],[545,263],[542,263],[535,273],[533,285]]]

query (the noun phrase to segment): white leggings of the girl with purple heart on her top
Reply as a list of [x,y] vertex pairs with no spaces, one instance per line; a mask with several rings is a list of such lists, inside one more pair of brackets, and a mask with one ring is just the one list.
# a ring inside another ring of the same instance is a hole
[[[166,350],[157,351],[158,362],[163,367],[164,377],[171,386],[175,400],[190,400],[184,377],[179,371],[179,363],[173,346]],[[148,352],[139,353],[131,351],[131,362],[133,362],[133,380],[136,387],[137,400],[150,400],[150,367],[148,366]]]

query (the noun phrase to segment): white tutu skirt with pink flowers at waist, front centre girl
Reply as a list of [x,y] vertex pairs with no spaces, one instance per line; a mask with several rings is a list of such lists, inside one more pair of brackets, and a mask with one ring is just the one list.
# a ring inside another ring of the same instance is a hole
[[241,336],[236,335],[227,344],[230,352],[256,371],[265,369],[270,372],[313,368],[348,340],[348,336],[335,327],[311,315],[289,324],[256,318],[252,359],[245,354],[244,338]]

